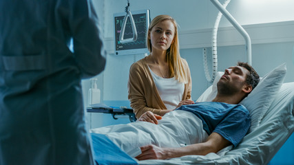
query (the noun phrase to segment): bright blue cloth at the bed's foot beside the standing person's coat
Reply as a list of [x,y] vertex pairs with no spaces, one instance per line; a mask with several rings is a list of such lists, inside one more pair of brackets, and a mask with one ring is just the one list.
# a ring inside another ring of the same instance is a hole
[[138,164],[135,159],[127,155],[116,144],[108,139],[107,136],[98,133],[91,133],[94,159],[99,165],[123,165]]

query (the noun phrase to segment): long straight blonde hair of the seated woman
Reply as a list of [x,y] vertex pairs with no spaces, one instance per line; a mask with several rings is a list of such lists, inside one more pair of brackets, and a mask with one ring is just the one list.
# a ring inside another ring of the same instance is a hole
[[148,28],[147,37],[146,37],[147,48],[149,52],[151,53],[152,52],[151,39],[148,39],[149,38],[148,36],[150,35],[152,28],[154,28],[154,26],[157,23],[160,23],[166,20],[171,21],[171,23],[174,24],[174,28],[175,28],[174,40],[171,43],[171,46],[169,47],[169,49],[167,49],[167,54],[166,54],[169,70],[171,71],[169,77],[175,77],[176,80],[178,80],[180,83],[188,83],[188,78],[187,78],[188,73],[185,72],[186,71],[185,66],[182,64],[182,60],[180,58],[180,46],[178,43],[178,24],[172,17],[170,17],[169,15],[158,15],[151,21]]

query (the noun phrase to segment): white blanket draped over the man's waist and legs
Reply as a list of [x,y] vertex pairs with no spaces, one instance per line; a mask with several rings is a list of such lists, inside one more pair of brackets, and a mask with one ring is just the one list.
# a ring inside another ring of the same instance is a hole
[[90,132],[107,135],[132,157],[139,155],[139,147],[147,144],[177,148],[204,142],[208,137],[202,121],[193,113],[181,110],[165,114],[158,124],[132,122],[92,129]]

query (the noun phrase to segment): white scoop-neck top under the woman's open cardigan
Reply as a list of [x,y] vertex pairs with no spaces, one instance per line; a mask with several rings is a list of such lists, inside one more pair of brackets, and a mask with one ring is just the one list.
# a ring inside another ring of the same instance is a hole
[[182,100],[182,94],[184,94],[185,90],[184,83],[178,82],[175,77],[162,78],[152,72],[150,67],[148,68],[165,107],[170,110],[175,109],[178,103]]

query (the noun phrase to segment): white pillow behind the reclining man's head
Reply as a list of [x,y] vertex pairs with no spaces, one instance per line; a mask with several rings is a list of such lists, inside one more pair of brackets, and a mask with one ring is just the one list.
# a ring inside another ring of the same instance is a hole
[[[217,83],[224,72],[218,72],[216,79],[213,81],[213,85],[210,89],[210,94],[202,94],[198,98],[197,102],[211,101],[216,97],[217,94]],[[284,77],[286,75],[286,63],[276,67],[271,72],[266,74],[264,78],[261,78],[260,83],[251,91],[251,93],[240,102],[248,109],[251,115],[251,127],[249,132],[254,131],[262,120],[264,113],[271,105],[271,102],[275,98],[275,94],[279,91]],[[207,91],[209,90],[207,89]]]

